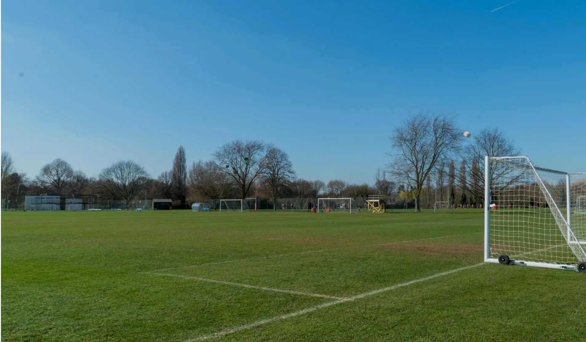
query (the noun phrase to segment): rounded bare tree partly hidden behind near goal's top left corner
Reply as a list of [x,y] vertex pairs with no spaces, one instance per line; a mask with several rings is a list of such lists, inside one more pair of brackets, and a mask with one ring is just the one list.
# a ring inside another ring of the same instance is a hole
[[[482,129],[474,134],[469,145],[462,149],[462,165],[465,172],[460,172],[459,183],[471,194],[472,201],[481,203],[484,201],[485,156],[518,156],[521,152],[522,150],[517,148],[515,143],[498,128]],[[491,182],[495,182],[502,176],[492,173]]]

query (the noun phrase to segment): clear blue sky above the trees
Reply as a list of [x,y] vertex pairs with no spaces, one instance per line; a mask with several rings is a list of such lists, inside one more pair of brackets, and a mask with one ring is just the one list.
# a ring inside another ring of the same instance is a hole
[[[586,2],[4,1],[2,151],[152,176],[231,139],[299,177],[373,182],[394,126],[454,112],[586,171]],[[24,76],[20,77],[19,73]]]

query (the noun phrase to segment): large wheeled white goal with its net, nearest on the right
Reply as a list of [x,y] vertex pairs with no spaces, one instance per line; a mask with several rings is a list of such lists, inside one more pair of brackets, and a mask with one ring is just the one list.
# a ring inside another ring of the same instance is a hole
[[485,262],[586,272],[586,173],[485,158]]

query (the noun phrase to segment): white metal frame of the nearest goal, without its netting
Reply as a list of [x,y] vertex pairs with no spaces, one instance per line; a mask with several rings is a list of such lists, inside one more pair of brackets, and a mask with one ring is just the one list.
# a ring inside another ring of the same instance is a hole
[[[556,222],[556,224],[558,224],[558,228],[560,228],[560,232],[561,235],[565,238],[565,242],[567,242],[568,245],[570,244],[578,244],[580,245],[579,248],[581,249],[582,253],[586,253],[585,252],[585,244],[586,241],[579,241],[575,235],[574,232],[571,228],[571,183],[570,183],[570,175],[586,175],[586,173],[567,173],[567,172],[562,172],[562,171],[557,171],[557,170],[551,170],[551,169],[544,169],[542,167],[536,167],[533,165],[533,163],[531,162],[531,160],[525,156],[516,156],[516,157],[489,157],[486,156],[485,157],[485,204],[484,204],[484,235],[485,235],[485,244],[484,244],[484,261],[485,262],[495,262],[495,263],[501,263],[499,261],[499,259],[495,259],[495,258],[491,258],[490,255],[490,210],[492,208],[492,204],[490,204],[490,160],[502,160],[502,159],[526,159],[527,162],[529,163],[529,167],[528,169],[532,169],[533,172],[536,172],[536,178],[537,181],[539,182],[539,186],[542,187],[542,189],[544,189],[547,193],[545,193],[545,196],[549,196],[550,198],[553,199],[553,197],[551,197],[551,194],[549,192],[549,190],[547,190],[546,186],[543,183],[543,180],[541,180],[541,176],[539,175],[539,173],[537,173],[537,170],[543,171],[543,172],[551,172],[551,173],[557,173],[560,175],[565,175],[565,179],[566,179],[566,201],[567,201],[567,213],[566,213],[566,217],[564,218],[564,222],[563,224],[565,224],[565,227],[559,227],[559,223]],[[558,214],[560,216],[563,217],[562,215],[562,211],[560,210],[560,208],[558,207],[558,204],[553,201],[553,207],[550,207],[550,210],[556,210],[558,212]],[[564,234],[564,230],[567,231],[567,234]],[[578,258],[578,266],[584,264],[584,262],[586,260],[582,260],[580,259],[580,257],[576,256]],[[523,266],[533,266],[533,267],[540,267],[540,268],[553,268],[553,269],[573,269],[573,270],[578,270],[578,266],[576,265],[567,265],[567,264],[553,264],[553,263],[548,263],[548,262],[534,262],[534,261],[515,261],[515,260],[510,260],[510,264],[513,265],[523,265]]]

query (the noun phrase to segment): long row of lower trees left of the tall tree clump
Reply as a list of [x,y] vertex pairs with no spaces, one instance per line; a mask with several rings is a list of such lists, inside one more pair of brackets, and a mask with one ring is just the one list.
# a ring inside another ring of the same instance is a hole
[[366,194],[372,189],[367,184],[348,184],[339,179],[327,184],[298,179],[287,153],[271,143],[235,140],[221,146],[212,157],[193,162],[188,169],[185,148],[179,146],[171,168],[156,178],[132,160],[120,160],[97,177],[87,177],[57,158],[30,179],[16,172],[10,154],[2,152],[2,199],[11,200],[9,206],[22,207],[26,195],[97,196],[128,205],[146,192],[149,198],[172,199],[175,208],[189,208],[192,202],[203,199],[258,196],[276,203],[280,197],[336,197]]

